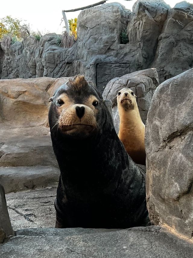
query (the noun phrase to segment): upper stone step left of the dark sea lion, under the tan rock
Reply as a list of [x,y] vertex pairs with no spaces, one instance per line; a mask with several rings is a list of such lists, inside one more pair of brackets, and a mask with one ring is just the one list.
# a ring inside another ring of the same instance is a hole
[[[6,132],[4,132],[5,134]],[[3,133],[2,133],[3,135]],[[50,135],[17,135],[0,143],[0,166],[54,165],[57,161]]]

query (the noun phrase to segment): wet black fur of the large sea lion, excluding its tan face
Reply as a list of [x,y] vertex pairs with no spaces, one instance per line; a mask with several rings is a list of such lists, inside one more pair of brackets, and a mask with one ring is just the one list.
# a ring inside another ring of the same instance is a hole
[[61,175],[55,201],[56,227],[128,228],[150,224],[145,178],[119,140],[101,94],[92,84],[69,82],[56,91],[49,110],[50,128],[57,123],[55,102],[65,92],[74,103],[95,95],[100,129],[88,139],[65,136],[54,126],[53,149]]

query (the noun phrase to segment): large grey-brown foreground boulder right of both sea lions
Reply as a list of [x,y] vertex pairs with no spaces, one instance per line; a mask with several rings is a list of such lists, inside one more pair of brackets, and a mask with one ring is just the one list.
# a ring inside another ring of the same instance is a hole
[[192,239],[193,69],[157,87],[145,142],[150,219]]

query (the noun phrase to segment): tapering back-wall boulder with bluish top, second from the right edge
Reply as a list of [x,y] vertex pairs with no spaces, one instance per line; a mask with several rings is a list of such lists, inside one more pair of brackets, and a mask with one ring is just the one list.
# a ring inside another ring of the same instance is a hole
[[129,44],[138,48],[142,68],[147,68],[154,59],[159,35],[170,8],[163,0],[138,0],[133,5],[135,15],[128,23]]

